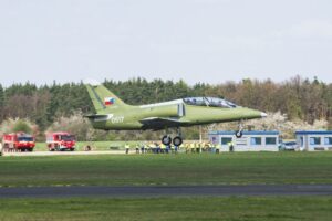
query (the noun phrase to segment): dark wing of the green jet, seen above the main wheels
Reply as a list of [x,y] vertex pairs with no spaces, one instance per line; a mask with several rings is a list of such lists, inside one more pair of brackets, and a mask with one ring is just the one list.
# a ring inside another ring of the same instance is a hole
[[139,123],[144,125],[144,128],[157,130],[164,129],[165,127],[179,127],[186,122],[180,122],[173,118],[148,117],[141,119]]

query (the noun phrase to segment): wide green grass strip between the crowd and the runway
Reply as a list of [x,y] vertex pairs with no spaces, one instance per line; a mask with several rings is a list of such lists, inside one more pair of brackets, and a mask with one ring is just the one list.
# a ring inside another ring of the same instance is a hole
[[332,152],[0,158],[0,186],[332,183]]

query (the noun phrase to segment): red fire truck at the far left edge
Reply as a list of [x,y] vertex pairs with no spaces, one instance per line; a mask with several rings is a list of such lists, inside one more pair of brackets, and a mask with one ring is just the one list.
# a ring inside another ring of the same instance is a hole
[[4,151],[32,151],[35,146],[34,137],[25,133],[6,134],[2,144]]

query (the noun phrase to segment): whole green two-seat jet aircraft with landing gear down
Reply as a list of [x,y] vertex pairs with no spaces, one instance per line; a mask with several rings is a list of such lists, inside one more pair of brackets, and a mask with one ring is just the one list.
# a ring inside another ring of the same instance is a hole
[[[181,145],[180,127],[206,125],[224,122],[239,122],[266,117],[267,114],[237,106],[217,97],[187,97],[170,102],[148,105],[128,105],[102,84],[86,84],[96,114],[86,115],[96,129],[104,130],[159,130],[177,128],[178,135],[173,139],[176,146]],[[237,137],[242,136],[239,124]],[[165,135],[162,143],[169,145],[172,138]]]

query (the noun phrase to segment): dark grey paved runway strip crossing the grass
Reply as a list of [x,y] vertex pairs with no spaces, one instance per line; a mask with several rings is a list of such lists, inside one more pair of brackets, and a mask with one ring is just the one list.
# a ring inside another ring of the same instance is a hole
[[0,198],[332,196],[332,185],[0,188]]

